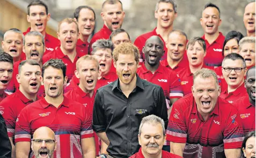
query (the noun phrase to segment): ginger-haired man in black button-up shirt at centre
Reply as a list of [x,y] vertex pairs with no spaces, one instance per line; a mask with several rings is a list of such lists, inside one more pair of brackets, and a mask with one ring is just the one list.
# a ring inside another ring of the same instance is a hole
[[[168,124],[163,89],[136,74],[140,51],[122,43],[113,51],[118,80],[98,89],[93,107],[93,130],[113,157],[138,152],[138,128],[143,117],[156,115]],[[165,127],[166,128],[166,127]]]

